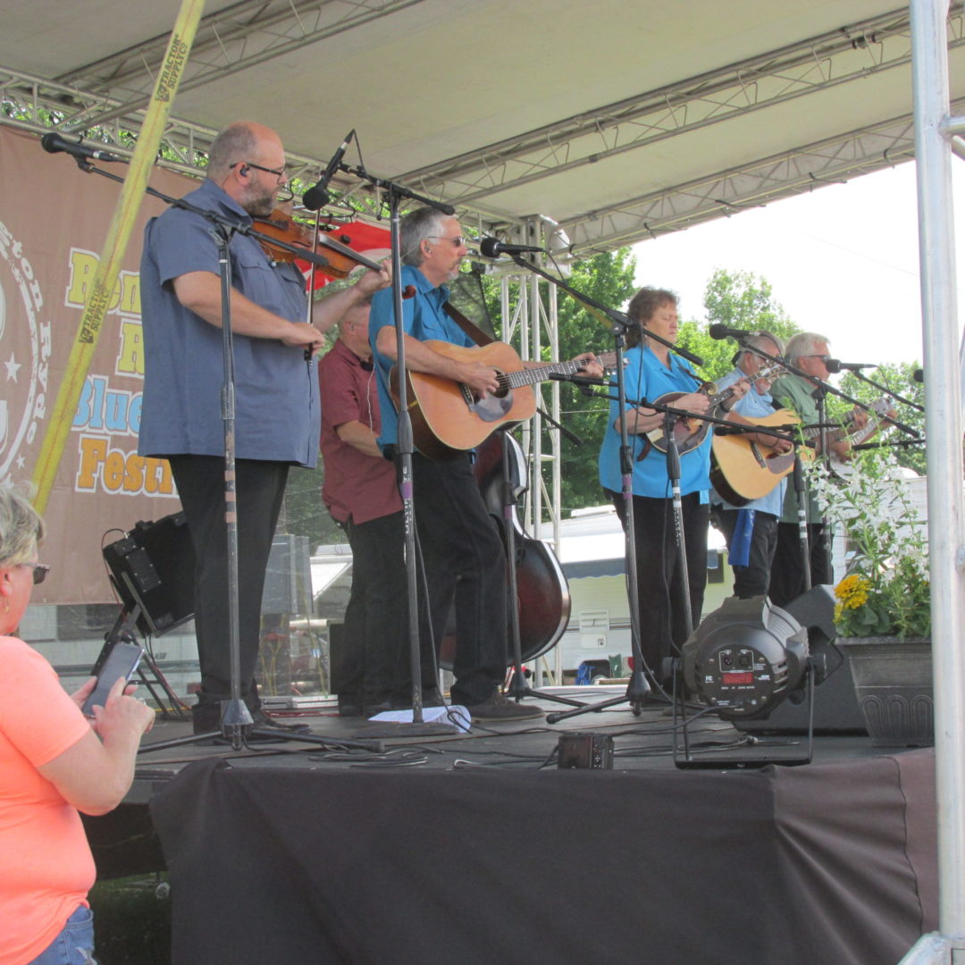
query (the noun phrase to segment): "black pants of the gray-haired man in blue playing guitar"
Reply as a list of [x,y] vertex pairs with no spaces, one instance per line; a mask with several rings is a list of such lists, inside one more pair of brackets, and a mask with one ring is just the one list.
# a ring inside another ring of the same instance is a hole
[[483,703],[507,668],[506,553],[467,455],[412,456],[416,529],[438,648],[455,602],[453,703]]

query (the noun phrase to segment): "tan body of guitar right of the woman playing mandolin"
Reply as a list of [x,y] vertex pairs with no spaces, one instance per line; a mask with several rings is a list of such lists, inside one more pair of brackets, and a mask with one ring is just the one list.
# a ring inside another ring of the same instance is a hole
[[[750,423],[764,428],[798,425],[801,420],[789,409],[758,419],[745,417]],[[715,433],[711,442],[710,482],[732,506],[745,506],[752,500],[766,496],[794,468],[794,452],[774,453],[773,450],[751,442],[746,435]],[[801,447],[804,459],[813,452]]]

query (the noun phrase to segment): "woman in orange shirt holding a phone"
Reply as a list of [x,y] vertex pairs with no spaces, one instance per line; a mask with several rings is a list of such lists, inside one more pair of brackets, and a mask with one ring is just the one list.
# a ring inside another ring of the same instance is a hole
[[49,568],[42,535],[27,499],[0,486],[0,965],[91,965],[95,869],[78,811],[121,803],[154,714],[119,679],[85,719],[95,678],[69,696],[13,635]]

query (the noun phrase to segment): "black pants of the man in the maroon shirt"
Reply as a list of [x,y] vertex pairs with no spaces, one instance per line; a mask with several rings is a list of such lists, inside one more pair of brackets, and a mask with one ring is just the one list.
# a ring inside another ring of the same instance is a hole
[[[404,697],[411,678],[408,585],[401,510],[345,523],[352,548],[352,590],[345,607],[345,671],[340,696],[371,706]],[[425,686],[433,684],[424,680]]]

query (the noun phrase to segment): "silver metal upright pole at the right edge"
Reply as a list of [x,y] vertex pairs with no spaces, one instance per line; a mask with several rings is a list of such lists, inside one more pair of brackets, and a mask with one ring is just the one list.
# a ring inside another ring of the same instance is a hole
[[[951,116],[945,19],[948,0],[912,0],[919,258],[928,439],[928,554],[938,800],[939,932],[903,965],[965,960],[965,495],[955,297]],[[957,953],[956,953],[957,952]]]

